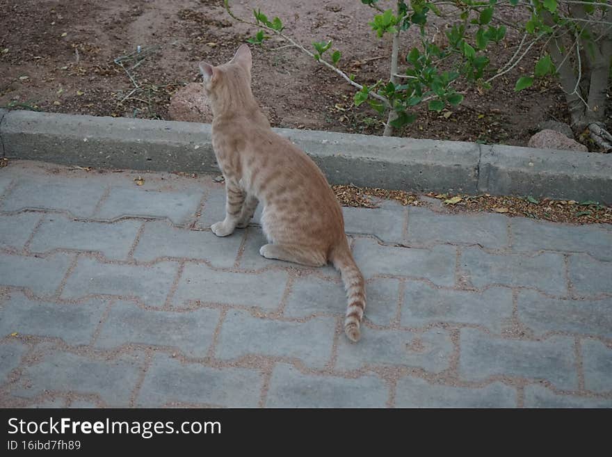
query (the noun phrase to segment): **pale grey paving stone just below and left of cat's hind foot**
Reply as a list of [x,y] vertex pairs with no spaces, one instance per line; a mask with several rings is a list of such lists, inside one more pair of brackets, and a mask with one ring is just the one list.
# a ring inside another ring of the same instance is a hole
[[186,264],[172,303],[186,300],[204,303],[257,306],[274,310],[287,285],[286,271],[230,273],[204,264]]

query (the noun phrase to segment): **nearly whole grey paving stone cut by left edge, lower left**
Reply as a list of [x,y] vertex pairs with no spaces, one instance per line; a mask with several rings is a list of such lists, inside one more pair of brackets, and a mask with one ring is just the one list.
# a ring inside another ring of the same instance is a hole
[[0,335],[61,338],[67,344],[89,344],[106,310],[103,300],[89,300],[79,305],[63,305],[30,300],[15,293],[0,310]]

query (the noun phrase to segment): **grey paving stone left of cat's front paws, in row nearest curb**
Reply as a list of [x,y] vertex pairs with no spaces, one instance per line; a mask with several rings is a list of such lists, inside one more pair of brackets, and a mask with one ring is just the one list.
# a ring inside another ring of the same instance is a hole
[[202,195],[204,191],[170,192],[113,187],[95,217],[106,220],[121,216],[169,218],[172,223],[182,225],[195,220]]

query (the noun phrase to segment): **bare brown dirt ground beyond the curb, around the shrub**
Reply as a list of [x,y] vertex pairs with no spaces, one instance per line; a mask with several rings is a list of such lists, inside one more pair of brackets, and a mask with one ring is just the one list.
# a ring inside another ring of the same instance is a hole
[[[391,43],[375,37],[367,25],[374,12],[360,1],[232,4],[240,17],[250,19],[252,8],[281,17],[288,33],[305,44],[332,39],[343,54],[340,67],[357,81],[369,84],[388,75]],[[223,63],[257,32],[236,24],[222,0],[0,0],[0,26],[0,106],[153,119],[168,119],[172,93],[200,81],[199,61]],[[518,42],[509,31],[490,52],[492,63],[507,61]],[[408,52],[415,43],[416,31],[407,33],[402,49]],[[351,107],[353,90],[343,80],[296,49],[273,50],[282,45],[270,40],[252,46],[253,91],[275,127],[382,133],[374,111],[365,104]],[[131,81],[114,61],[138,46],[144,54],[124,61],[140,62]],[[538,52],[526,58],[525,67]],[[541,120],[567,121],[554,81],[514,92],[526,71],[517,65],[485,93],[468,89],[452,111],[421,109],[401,135],[526,145]]]

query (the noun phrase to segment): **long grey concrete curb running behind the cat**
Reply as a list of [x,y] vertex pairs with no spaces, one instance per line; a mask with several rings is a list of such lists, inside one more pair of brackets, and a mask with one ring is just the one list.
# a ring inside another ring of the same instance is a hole
[[[331,184],[612,203],[612,154],[274,130],[305,150]],[[219,173],[211,126],[193,122],[0,110],[0,145],[8,159]]]

